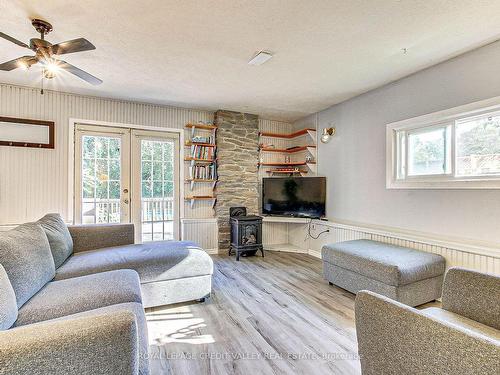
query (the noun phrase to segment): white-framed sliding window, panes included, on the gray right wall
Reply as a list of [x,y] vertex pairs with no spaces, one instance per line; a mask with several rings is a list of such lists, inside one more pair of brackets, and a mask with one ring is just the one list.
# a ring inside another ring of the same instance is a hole
[[387,187],[500,188],[500,104],[389,124]]

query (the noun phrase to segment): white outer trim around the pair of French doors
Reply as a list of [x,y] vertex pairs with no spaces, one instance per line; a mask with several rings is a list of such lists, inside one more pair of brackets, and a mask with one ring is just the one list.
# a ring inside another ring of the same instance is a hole
[[[137,130],[153,130],[157,132],[169,132],[179,134],[179,161],[184,160],[184,129],[163,128],[159,126],[147,126],[137,124],[127,124],[109,121],[96,121],[87,119],[70,118],[68,131],[68,217],[75,222],[75,127],[80,125],[109,126],[114,128],[128,128]],[[179,221],[184,218],[184,168],[179,168]]]

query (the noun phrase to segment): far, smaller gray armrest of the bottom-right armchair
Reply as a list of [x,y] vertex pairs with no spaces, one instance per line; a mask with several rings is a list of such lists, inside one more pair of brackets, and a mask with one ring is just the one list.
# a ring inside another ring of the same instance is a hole
[[500,330],[500,277],[450,268],[443,284],[443,309]]

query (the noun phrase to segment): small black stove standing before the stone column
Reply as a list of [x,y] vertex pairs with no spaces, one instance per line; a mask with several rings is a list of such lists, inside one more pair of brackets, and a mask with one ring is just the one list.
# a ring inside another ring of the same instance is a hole
[[262,217],[247,215],[246,207],[231,207],[229,217],[231,220],[229,255],[234,250],[236,260],[240,260],[240,254],[243,256],[255,255],[260,250],[264,256]]

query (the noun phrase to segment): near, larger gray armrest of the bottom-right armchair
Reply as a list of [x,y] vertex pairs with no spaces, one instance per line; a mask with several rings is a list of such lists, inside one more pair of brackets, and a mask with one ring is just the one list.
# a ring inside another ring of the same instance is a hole
[[363,375],[499,374],[500,343],[376,293],[356,296]]

